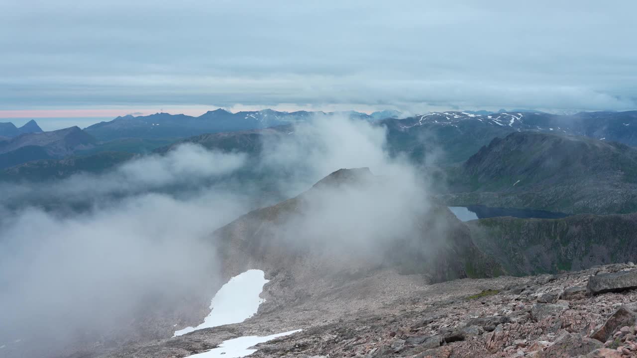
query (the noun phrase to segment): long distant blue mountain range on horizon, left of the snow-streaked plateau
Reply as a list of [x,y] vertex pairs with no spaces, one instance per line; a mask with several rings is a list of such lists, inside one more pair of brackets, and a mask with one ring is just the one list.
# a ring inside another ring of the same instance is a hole
[[375,112],[373,115],[357,111],[344,112],[283,112],[275,110],[240,111],[231,113],[221,108],[208,111],[199,117],[189,115],[126,115],[110,122],[100,122],[85,128],[92,136],[102,141],[120,138],[183,138],[216,132],[248,131],[264,129],[276,125],[303,122],[312,117],[343,115],[350,118],[376,120],[396,115],[394,111]]

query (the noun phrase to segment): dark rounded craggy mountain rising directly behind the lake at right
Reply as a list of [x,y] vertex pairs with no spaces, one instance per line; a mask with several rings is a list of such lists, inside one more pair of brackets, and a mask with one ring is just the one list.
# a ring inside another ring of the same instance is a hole
[[513,132],[449,172],[454,206],[564,213],[637,211],[637,149],[542,132]]

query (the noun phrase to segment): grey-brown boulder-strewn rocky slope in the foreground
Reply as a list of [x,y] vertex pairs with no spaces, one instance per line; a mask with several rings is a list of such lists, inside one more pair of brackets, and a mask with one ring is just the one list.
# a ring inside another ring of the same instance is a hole
[[[276,280],[264,296],[276,294]],[[303,331],[262,343],[254,357],[637,357],[637,267],[426,285],[378,273],[294,306],[272,300],[241,324],[111,352],[185,357],[223,340]]]

